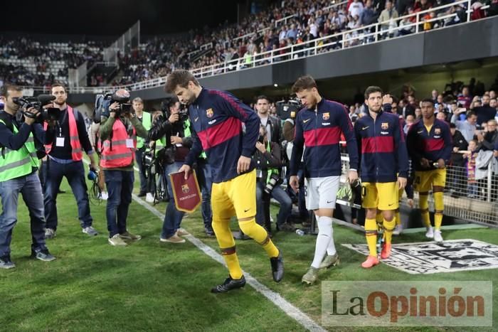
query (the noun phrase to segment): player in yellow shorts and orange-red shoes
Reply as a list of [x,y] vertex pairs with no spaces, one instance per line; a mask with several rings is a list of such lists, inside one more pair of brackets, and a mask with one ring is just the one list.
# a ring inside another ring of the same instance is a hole
[[377,258],[377,210],[382,211],[385,242],[381,258],[391,255],[391,238],[396,225],[398,190],[406,186],[408,152],[405,135],[398,115],[382,110],[382,90],[368,87],[365,104],[368,114],[354,125],[356,141],[361,151],[361,181],[363,207],[366,209],[365,235],[369,257],[361,264],[366,269],[379,263]]

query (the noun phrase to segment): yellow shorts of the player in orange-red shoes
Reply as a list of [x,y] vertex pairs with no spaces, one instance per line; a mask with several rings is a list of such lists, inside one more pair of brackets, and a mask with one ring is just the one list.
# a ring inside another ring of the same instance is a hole
[[361,183],[362,206],[379,210],[396,210],[398,208],[398,183],[364,182]]

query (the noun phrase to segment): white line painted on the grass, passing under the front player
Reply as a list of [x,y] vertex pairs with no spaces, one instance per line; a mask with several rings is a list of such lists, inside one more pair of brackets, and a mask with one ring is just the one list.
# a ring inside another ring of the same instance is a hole
[[[152,212],[158,218],[161,218],[161,220],[164,220],[164,214],[160,213],[151,205],[145,203],[144,200],[140,199],[135,194],[133,194],[133,200],[135,200],[144,208]],[[212,259],[216,260],[216,262],[223,264],[223,266],[226,267],[225,260],[223,259],[223,257],[221,257],[221,255],[218,254],[218,252],[213,250],[213,248],[208,247],[208,245],[205,245],[201,240],[198,240],[197,237],[194,237],[194,235],[187,235],[185,238],[189,240],[193,245],[198,247],[198,249],[204,252],[206,255],[208,255]],[[302,311],[300,311],[300,309],[297,309],[295,306],[290,304],[290,302],[288,302],[286,299],[280,296],[280,294],[278,294],[275,291],[272,291],[264,284],[258,282],[258,280],[255,279],[255,277],[251,276],[248,272],[244,271],[244,277],[247,283],[250,285],[250,287],[253,287],[253,289],[258,291],[260,294],[263,294],[263,296],[265,296],[268,300],[272,301],[272,303],[275,304],[275,306],[282,309],[282,311],[284,311],[285,314],[287,314],[287,316],[293,318],[295,321],[297,321],[297,323],[300,323],[308,331],[320,331],[320,332],[327,331],[324,328],[322,328],[322,326],[319,326],[319,324],[313,321],[312,318],[309,318],[307,314],[304,314]]]

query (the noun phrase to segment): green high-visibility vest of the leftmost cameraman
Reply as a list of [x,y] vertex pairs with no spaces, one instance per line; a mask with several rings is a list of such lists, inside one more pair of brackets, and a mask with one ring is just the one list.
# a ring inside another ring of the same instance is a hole
[[[6,124],[3,120],[1,123]],[[14,134],[18,133],[16,126],[13,126]],[[38,157],[36,156],[35,141],[33,133],[18,150],[11,150],[6,147],[4,155],[0,156],[0,182],[9,181],[30,174],[33,167],[38,167]]]

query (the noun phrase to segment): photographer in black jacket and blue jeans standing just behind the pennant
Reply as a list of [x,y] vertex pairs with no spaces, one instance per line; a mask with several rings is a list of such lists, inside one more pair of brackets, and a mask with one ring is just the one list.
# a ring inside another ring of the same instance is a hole
[[[152,129],[149,132],[149,139],[159,141],[164,136],[166,146],[159,154],[159,162],[164,169],[164,178],[166,178],[169,203],[164,215],[162,227],[161,242],[184,243],[185,240],[181,235],[186,232],[180,229],[181,219],[184,218],[184,212],[176,209],[173,195],[173,186],[169,178],[169,173],[177,172],[184,164],[185,157],[189,154],[192,146],[191,137],[186,137],[186,114],[180,115],[180,102],[177,97],[171,96],[163,102],[164,117],[159,116],[154,121]],[[189,129],[190,130],[190,129]]]

